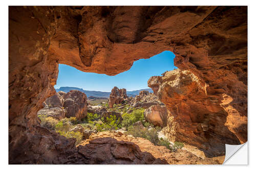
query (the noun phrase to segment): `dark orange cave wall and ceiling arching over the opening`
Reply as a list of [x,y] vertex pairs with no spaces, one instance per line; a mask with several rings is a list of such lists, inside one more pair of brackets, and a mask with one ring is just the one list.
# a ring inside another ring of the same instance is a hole
[[[55,158],[71,155],[74,142],[40,128],[36,116],[42,103],[55,94],[59,63],[113,76],[130,69],[136,60],[165,50],[174,52],[179,69],[188,69],[206,83],[211,102],[223,101],[226,115],[216,116],[209,129],[218,129],[215,125],[223,122],[231,143],[238,143],[232,133],[245,142],[246,6],[9,6],[9,163],[63,163]],[[160,94],[163,102],[169,98]],[[185,100],[183,104],[187,105]],[[167,101],[165,105],[172,108]],[[225,141],[221,134],[216,134],[217,143]],[[209,140],[201,144],[196,137],[196,141],[201,147],[206,144],[206,150],[209,147]]]

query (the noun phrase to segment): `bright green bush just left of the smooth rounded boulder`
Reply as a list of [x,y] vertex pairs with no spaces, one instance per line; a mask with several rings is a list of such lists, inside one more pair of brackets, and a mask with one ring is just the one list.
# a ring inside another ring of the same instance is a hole
[[129,128],[137,121],[141,120],[141,122],[145,119],[144,118],[144,109],[136,109],[133,110],[132,113],[124,113],[122,114],[122,127]]

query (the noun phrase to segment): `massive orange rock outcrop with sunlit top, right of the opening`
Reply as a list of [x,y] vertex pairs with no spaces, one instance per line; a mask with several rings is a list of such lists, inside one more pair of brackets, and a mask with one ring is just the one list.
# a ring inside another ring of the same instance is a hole
[[203,149],[207,156],[225,155],[225,144],[247,140],[247,108],[240,107],[246,105],[247,88],[231,71],[216,79],[219,71],[224,70],[210,77],[204,74],[203,79],[190,70],[175,69],[148,80],[178,124],[177,140]]

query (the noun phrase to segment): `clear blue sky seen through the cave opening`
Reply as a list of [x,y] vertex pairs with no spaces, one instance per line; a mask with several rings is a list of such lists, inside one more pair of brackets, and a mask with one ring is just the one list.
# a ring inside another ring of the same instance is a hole
[[74,67],[59,64],[59,74],[55,88],[78,87],[84,90],[108,91],[114,86],[126,88],[127,91],[148,88],[147,80],[152,76],[161,76],[174,66],[175,55],[170,51],[162,52],[150,59],[140,59],[133,63],[131,69],[116,76],[107,76],[92,72],[82,72]]

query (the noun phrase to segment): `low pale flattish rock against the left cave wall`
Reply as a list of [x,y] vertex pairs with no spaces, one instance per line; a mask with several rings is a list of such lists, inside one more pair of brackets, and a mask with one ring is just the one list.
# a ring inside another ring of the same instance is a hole
[[47,117],[53,117],[56,119],[62,119],[66,117],[66,110],[62,108],[44,108],[37,112],[37,115],[46,115]]

